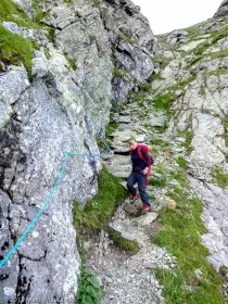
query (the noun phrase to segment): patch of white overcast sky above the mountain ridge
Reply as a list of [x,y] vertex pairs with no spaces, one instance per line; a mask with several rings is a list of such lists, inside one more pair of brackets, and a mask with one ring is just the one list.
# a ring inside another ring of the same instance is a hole
[[223,0],[132,0],[154,34],[191,26],[212,17]]

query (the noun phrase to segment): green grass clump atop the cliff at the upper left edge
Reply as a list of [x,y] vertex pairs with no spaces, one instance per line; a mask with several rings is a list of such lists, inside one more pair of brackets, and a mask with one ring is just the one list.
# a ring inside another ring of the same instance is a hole
[[0,60],[7,64],[20,65],[22,62],[29,72],[34,58],[33,45],[18,34],[0,26]]

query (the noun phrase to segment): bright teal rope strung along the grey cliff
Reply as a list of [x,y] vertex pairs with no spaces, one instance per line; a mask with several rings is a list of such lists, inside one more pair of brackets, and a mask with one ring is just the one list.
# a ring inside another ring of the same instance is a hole
[[[92,121],[91,121],[92,122]],[[98,135],[98,132],[97,132]],[[103,142],[103,144],[109,149],[110,152],[110,148],[106,145],[105,141],[98,135],[98,137],[101,139],[101,141]],[[12,256],[12,254],[17,250],[17,248],[21,245],[21,243],[24,241],[24,239],[26,238],[26,236],[28,235],[28,232],[31,230],[31,228],[36,225],[36,223],[39,220],[39,217],[42,215],[43,211],[47,208],[48,204],[50,203],[51,199],[53,198],[54,193],[58,190],[58,187],[60,186],[60,182],[63,178],[63,175],[65,173],[66,169],[66,165],[67,165],[67,160],[68,160],[68,155],[69,156],[83,156],[83,157],[101,157],[101,156],[109,156],[110,153],[106,154],[89,154],[89,153],[71,153],[71,152],[64,152],[64,160],[63,160],[63,165],[61,167],[59,177],[48,197],[48,199],[46,200],[46,202],[43,203],[42,208],[37,213],[37,215],[34,217],[34,219],[29,223],[29,225],[27,226],[25,232],[22,235],[22,237],[17,240],[17,242],[15,243],[15,245],[8,252],[8,254],[4,256],[4,258],[0,262],[0,268],[3,267],[3,265],[8,262],[8,259]]]

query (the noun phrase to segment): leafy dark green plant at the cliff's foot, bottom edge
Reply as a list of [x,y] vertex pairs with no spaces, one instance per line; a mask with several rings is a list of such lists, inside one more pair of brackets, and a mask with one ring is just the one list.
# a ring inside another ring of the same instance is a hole
[[102,291],[94,270],[83,265],[76,304],[100,304]]

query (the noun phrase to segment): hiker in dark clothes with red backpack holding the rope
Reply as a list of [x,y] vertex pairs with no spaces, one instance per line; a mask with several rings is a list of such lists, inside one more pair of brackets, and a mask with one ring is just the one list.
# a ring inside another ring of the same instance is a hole
[[131,155],[132,172],[130,173],[127,179],[127,189],[130,192],[130,201],[131,203],[134,203],[134,201],[138,197],[138,191],[134,187],[134,185],[138,182],[139,193],[142,201],[142,211],[149,212],[151,204],[148,199],[148,193],[145,192],[145,183],[149,174],[149,167],[151,165],[150,157],[147,151],[144,150],[143,145],[141,147],[140,144],[138,144],[135,138],[128,140],[128,144],[130,148],[129,151],[119,152],[112,150],[111,156],[113,156],[113,154]]

